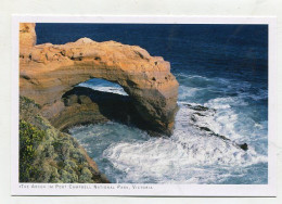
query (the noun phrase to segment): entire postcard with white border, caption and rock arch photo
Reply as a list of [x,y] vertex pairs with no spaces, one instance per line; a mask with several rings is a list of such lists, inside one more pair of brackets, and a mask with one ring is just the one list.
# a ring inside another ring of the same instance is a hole
[[275,20],[13,17],[13,195],[275,195]]

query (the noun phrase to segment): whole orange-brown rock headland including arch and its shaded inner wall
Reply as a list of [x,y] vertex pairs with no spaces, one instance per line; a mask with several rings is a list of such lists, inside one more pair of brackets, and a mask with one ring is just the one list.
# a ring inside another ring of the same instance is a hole
[[[170,73],[170,64],[163,58],[151,56],[138,46],[95,42],[89,38],[66,44],[36,44],[35,26],[30,23],[20,25],[20,94],[38,104],[36,114],[28,119],[29,112],[21,107],[21,123],[46,131],[36,119],[30,119],[39,115],[57,132],[55,138],[65,136],[68,139],[72,136],[63,131],[72,126],[111,119],[136,125],[152,136],[172,133],[178,110],[178,81]],[[116,82],[128,97],[76,87],[91,78]],[[68,141],[72,146],[78,146],[75,140]],[[91,178],[93,182],[107,182],[84,149],[79,146],[79,150],[86,166],[70,170],[76,173],[72,182],[84,181],[79,180],[82,169],[88,175],[86,182]],[[72,156],[67,160],[72,161]],[[60,162],[64,163],[64,160]],[[59,165],[61,177],[59,173],[54,182],[66,182],[59,179],[65,178],[62,173],[68,173],[64,165]]]

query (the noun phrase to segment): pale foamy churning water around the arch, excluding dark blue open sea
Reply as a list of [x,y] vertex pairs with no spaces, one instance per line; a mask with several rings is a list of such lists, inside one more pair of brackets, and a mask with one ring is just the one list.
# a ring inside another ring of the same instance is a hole
[[[256,98],[255,93],[246,94],[248,82],[181,77],[191,80],[179,87],[180,109],[170,138],[152,138],[138,128],[113,122],[75,127],[70,133],[112,182],[266,183],[268,123],[251,117],[247,109],[252,100],[264,100],[267,92],[258,91]],[[120,94],[111,86],[82,86]],[[216,89],[220,94],[215,93]],[[197,111],[191,105],[205,109]],[[243,142],[248,144],[247,151],[239,148]]]

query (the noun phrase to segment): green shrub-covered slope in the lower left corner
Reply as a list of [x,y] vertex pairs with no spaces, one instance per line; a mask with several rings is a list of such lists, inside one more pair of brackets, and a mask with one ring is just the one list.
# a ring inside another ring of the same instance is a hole
[[20,99],[20,182],[108,182],[69,135],[41,116],[39,105]]

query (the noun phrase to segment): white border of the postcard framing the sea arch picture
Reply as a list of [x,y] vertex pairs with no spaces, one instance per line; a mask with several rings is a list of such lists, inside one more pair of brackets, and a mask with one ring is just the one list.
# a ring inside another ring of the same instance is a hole
[[[268,24],[269,25],[269,128],[268,184],[24,184],[18,183],[18,24],[25,23],[148,23],[148,24]],[[277,50],[274,17],[188,16],[54,16],[14,15],[12,18],[12,195],[151,195],[151,196],[275,196],[277,195]],[[150,190],[133,190],[133,186]],[[41,188],[40,188],[41,187]],[[46,187],[46,188],[42,188]],[[81,187],[85,189],[70,189]],[[100,189],[95,189],[100,188]],[[120,189],[128,187],[130,190]],[[91,189],[89,189],[91,188]],[[104,189],[104,188],[114,188]],[[152,188],[152,189],[151,189]]]

